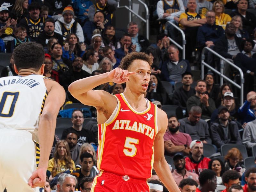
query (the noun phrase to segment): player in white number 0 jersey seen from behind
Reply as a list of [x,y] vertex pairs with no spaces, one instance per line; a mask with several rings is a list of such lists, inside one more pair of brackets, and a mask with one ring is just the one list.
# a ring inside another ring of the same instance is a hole
[[21,44],[13,55],[19,76],[0,78],[0,191],[38,191],[35,187],[45,184],[65,91],[42,76],[44,50],[40,44]]

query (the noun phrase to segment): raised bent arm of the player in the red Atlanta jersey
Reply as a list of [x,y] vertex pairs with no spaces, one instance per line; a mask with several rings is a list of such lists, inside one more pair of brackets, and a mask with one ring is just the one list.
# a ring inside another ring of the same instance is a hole
[[106,106],[106,103],[109,103],[109,100],[114,96],[102,90],[93,91],[92,89],[108,82],[117,84],[124,83],[128,81],[129,76],[133,74],[135,74],[135,72],[115,68],[107,73],[77,80],[68,86],[68,91],[73,97],[85,105],[94,106],[96,108],[103,107]]

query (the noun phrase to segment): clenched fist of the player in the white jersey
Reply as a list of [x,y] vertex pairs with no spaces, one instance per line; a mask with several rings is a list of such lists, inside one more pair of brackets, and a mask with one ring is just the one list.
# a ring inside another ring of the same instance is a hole
[[34,187],[44,187],[46,180],[46,169],[37,169],[31,175],[28,180],[28,185],[31,188]]

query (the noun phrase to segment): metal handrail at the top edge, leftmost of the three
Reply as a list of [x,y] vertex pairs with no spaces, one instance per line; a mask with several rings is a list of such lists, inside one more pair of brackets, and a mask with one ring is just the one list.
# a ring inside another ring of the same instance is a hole
[[120,9],[120,8],[125,8],[125,9],[127,9],[127,10],[129,11],[129,22],[132,21],[132,13],[133,13],[134,15],[136,15],[138,18],[140,18],[143,22],[145,22],[145,23],[146,23],[146,37],[147,37],[147,39],[149,39],[149,11],[148,11],[148,5],[145,4],[144,2],[142,2],[141,0],[137,0],[138,2],[140,2],[141,4],[143,4],[144,7],[145,7],[145,10],[146,10],[146,19],[144,19],[143,17],[141,17],[139,14],[137,14],[136,12],[134,12],[134,11],[132,10],[132,0],[128,0],[128,1],[129,1],[129,7],[126,6],[126,5],[120,6],[120,5],[119,5],[120,0],[117,0],[117,8],[119,8],[119,9]]

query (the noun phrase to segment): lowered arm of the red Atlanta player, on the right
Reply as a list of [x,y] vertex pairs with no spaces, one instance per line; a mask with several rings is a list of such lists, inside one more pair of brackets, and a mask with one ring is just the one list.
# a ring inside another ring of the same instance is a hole
[[157,126],[158,132],[154,142],[154,169],[159,179],[169,191],[180,192],[164,158],[164,133],[168,126],[168,119],[166,113],[161,109],[158,109],[157,112]]

